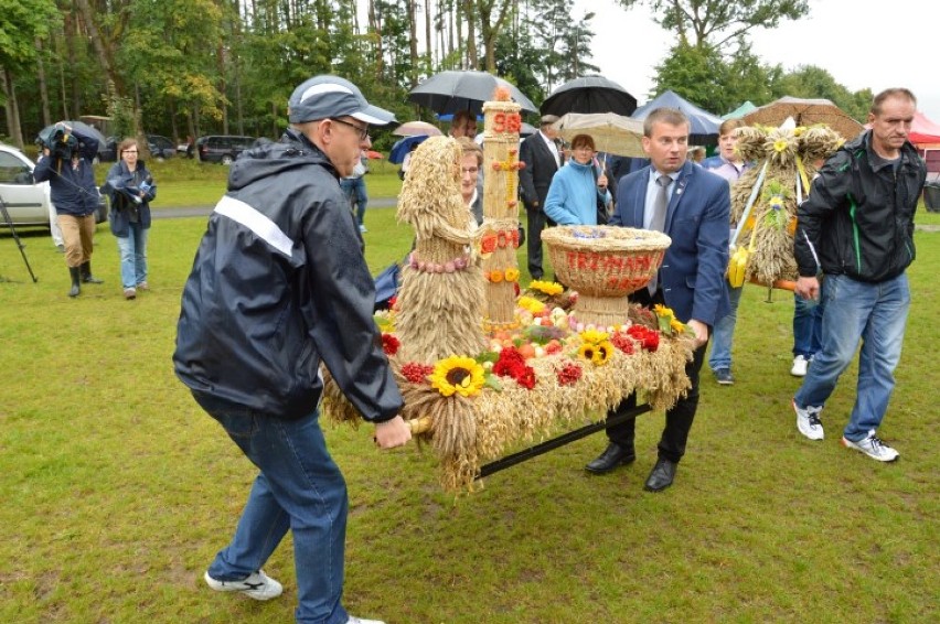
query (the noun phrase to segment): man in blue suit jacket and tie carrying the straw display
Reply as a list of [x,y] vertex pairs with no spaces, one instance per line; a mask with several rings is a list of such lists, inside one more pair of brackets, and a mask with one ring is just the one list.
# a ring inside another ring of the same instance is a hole
[[[650,165],[626,175],[617,190],[610,225],[659,229],[672,238],[662,267],[648,288],[630,295],[642,305],[664,304],[695,331],[695,352],[685,374],[688,394],[666,411],[659,460],[644,488],[665,489],[685,454],[685,442],[698,406],[698,372],[712,326],[729,311],[725,271],[728,267],[728,182],[686,159],[688,119],[676,109],[660,108],[643,122],[643,150]],[[631,395],[611,418],[635,407]],[[601,474],[637,459],[634,421],[610,427],[607,449],[586,469]]]

